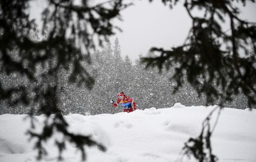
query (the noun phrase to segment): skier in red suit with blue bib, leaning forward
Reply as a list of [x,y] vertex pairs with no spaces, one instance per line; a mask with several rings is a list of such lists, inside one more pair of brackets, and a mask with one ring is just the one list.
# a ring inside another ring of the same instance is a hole
[[115,103],[113,100],[110,102],[112,103],[112,106],[118,106],[118,104],[121,104],[123,106],[123,112],[133,112],[136,110],[136,102],[132,98],[124,95],[123,92],[117,95],[117,100]]

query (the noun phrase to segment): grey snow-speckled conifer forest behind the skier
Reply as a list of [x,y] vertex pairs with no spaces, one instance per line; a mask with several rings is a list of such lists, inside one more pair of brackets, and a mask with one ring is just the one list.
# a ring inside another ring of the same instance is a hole
[[[148,51],[148,57],[155,56],[153,52]],[[107,44],[101,51],[97,51],[91,55],[90,62],[83,62],[84,68],[95,80],[92,89],[84,86],[77,86],[75,83],[68,83],[68,73],[66,70],[58,71],[58,106],[62,107],[61,112],[64,115],[78,113],[83,115],[95,115],[101,113],[117,113],[122,112],[121,106],[113,109],[110,100],[116,100],[116,96],[120,92],[124,92],[127,96],[132,97],[138,109],[146,108],[165,108],[171,107],[175,103],[182,103],[185,106],[208,106],[218,105],[216,99],[213,103],[206,101],[206,96],[198,95],[195,89],[187,82],[183,81],[182,87],[175,93],[175,81],[172,75],[178,64],[170,67],[167,71],[162,69],[148,67],[141,63],[142,54],[139,59],[132,62],[129,56],[124,58],[121,55],[121,45],[118,38],[112,43],[108,40]],[[43,69],[42,69],[43,70]],[[17,84],[25,84],[26,80],[18,75],[9,75],[3,78],[9,83],[9,86]],[[55,78],[48,78],[48,81]],[[54,84],[54,81],[53,81]],[[28,86],[28,85],[27,85]],[[233,96],[233,101],[226,101],[222,106],[245,109],[247,98],[239,93]],[[18,104],[15,106],[8,105],[7,100],[0,101],[0,114],[29,114],[33,111],[38,115],[41,112],[38,107],[31,107]],[[252,107],[255,108],[255,107]]]

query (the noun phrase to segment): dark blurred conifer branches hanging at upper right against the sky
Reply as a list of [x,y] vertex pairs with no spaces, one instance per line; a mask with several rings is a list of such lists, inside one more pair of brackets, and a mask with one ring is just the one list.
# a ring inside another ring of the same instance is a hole
[[[160,56],[145,57],[142,62],[160,70],[178,64],[173,75],[177,83],[174,92],[182,86],[181,80],[187,79],[198,95],[207,96],[209,104],[217,99],[230,101],[232,95],[242,91],[248,106],[256,105],[256,61],[255,54],[249,53],[251,47],[256,48],[256,26],[240,19],[232,2],[185,0],[184,6],[192,19],[185,43],[172,50],[154,47],[151,51],[159,52]],[[244,0],[239,2],[246,5]],[[192,14],[196,7],[204,12],[202,17]],[[222,30],[220,23],[225,22],[226,15],[230,19],[230,34]]]

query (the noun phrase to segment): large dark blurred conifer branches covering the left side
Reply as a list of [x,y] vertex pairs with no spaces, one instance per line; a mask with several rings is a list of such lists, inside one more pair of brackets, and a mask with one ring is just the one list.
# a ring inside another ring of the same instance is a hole
[[[102,45],[108,36],[114,34],[115,26],[110,21],[120,17],[120,11],[130,4],[123,3],[123,0],[111,0],[88,6],[87,0],[81,0],[78,6],[74,5],[73,0],[47,0],[48,6],[41,14],[43,38],[36,39],[40,33],[35,20],[29,19],[30,2],[0,2],[0,100],[8,100],[10,105],[30,106],[31,115],[47,115],[42,133],[35,133],[33,129],[28,131],[31,137],[37,139],[35,149],[38,150],[39,159],[47,155],[42,143],[52,137],[55,131],[75,143],[85,159],[85,145],[96,145],[100,150],[105,150],[105,147],[90,136],[67,131],[59,99],[61,71],[66,70],[70,74],[70,82],[91,89],[94,79],[81,62],[90,63],[90,51],[95,50],[93,37],[97,36]],[[20,80],[25,80],[25,84],[8,87],[3,77],[11,75],[20,75]],[[53,113],[54,120],[49,122]],[[56,146],[61,159],[65,140],[56,141]]]

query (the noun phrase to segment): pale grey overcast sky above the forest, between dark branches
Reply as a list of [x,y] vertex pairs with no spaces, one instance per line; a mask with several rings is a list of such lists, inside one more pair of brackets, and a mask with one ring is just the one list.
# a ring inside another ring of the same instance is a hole
[[[92,4],[98,1],[104,0],[91,0]],[[114,40],[118,37],[122,56],[128,55],[134,61],[139,54],[145,55],[151,47],[170,49],[184,42],[192,21],[183,3],[179,2],[170,9],[163,5],[162,0],[154,0],[152,3],[149,0],[130,1],[135,5],[121,12],[123,21],[114,21],[122,32],[116,31],[116,35],[110,38],[114,45]],[[42,8],[41,5],[42,1],[36,2],[36,7],[32,8],[32,17],[40,16],[38,7]],[[241,18],[256,22],[255,3],[247,3],[246,7],[239,6]]]

